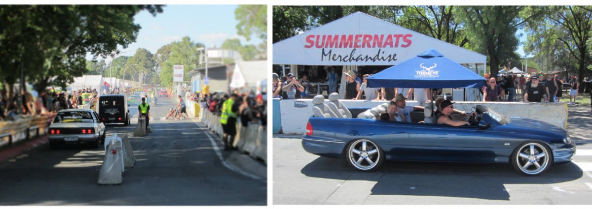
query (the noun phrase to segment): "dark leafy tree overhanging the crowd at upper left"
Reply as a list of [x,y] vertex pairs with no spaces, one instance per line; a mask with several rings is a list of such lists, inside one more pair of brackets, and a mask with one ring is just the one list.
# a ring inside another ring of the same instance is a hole
[[18,76],[10,72],[22,68],[38,91],[66,87],[87,71],[86,53],[106,58],[136,40],[133,17],[143,9],[162,12],[152,5],[0,6],[0,79],[12,89]]

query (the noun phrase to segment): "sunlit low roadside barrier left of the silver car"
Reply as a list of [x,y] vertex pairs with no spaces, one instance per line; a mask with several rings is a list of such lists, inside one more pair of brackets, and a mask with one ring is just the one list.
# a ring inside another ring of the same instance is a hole
[[0,122],[0,148],[45,135],[56,114],[24,116],[16,121]]

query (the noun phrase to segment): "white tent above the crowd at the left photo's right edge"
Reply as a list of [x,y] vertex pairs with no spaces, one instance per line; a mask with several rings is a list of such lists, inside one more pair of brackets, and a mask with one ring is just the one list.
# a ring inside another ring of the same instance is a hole
[[266,79],[267,60],[237,61],[230,81],[231,89],[255,89],[258,81]]

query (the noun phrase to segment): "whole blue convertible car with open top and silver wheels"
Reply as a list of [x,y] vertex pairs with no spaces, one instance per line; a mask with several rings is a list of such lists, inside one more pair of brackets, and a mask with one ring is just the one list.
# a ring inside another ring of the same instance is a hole
[[[317,105],[322,107],[322,100]],[[311,154],[345,158],[360,171],[375,170],[385,160],[485,162],[509,163],[522,174],[538,175],[553,164],[570,162],[575,155],[575,143],[564,129],[509,117],[481,105],[475,107],[477,114],[470,119],[471,125],[459,127],[428,120],[379,120],[380,111],[366,112],[374,117],[365,117],[364,113],[358,118],[322,113],[319,117],[315,113],[317,116],[308,119],[303,148]]]

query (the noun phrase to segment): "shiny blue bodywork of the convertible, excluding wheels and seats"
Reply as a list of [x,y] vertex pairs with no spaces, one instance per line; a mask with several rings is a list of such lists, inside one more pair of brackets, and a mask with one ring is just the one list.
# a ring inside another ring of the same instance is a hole
[[509,163],[517,146],[539,141],[549,146],[554,162],[570,162],[575,143],[564,143],[567,132],[538,120],[511,117],[501,125],[484,115],[488,126],[418,124],[358,118],[310,117],[312,135],[303,135],[305,151],[342,158],[349,142],[369,139],[395,161]]

